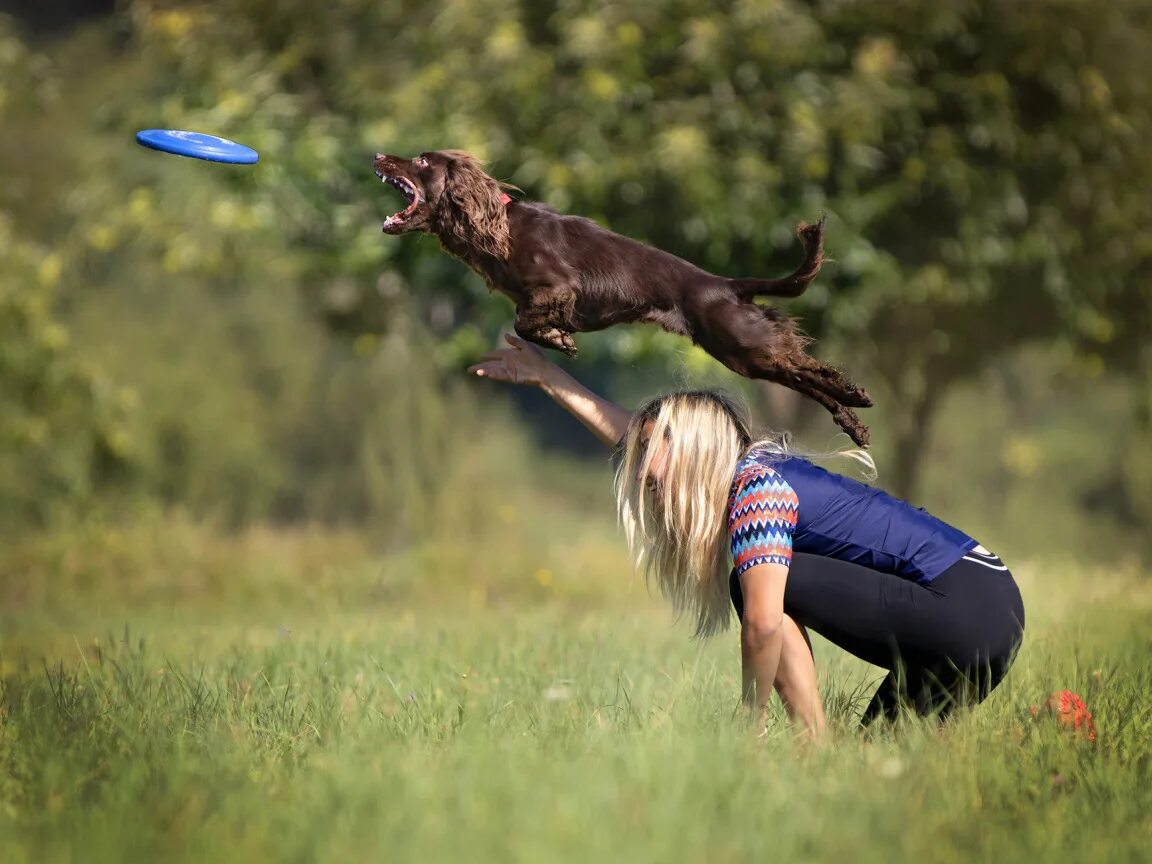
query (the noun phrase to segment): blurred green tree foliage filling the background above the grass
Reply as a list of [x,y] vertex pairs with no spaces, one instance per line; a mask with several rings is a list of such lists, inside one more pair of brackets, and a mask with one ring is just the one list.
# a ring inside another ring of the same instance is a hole
[[[876,396],[881,483],[992,543],[1138,547],[1149,20],[1139,0],[137,0],[51,36],[0,17],[0,514],[424,530],[461,454],[515,434],[460,374],[510,308],[434,241],[379,235],[397,199],[369,165],[456,146],[721,273],[789,267],[794,225],[826,213],[833,263],[793,311]],[[262,160],[143,151],[144,127]],[[574,371],[622,400],[719,382],[832,438],[683,340],[581,342]]]

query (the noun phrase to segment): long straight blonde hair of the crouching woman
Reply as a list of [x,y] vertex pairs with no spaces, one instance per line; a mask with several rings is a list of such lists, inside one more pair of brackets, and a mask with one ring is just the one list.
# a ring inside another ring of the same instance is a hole
[[[646,478],[661,440],[667,445],[664,482],[653,487]],[[628,548],[636,569],[650,585],[659,584],[677,617],[692,613],[696,636],[728,627],[728,498],[736,463],[752,449],[780,458],[846,456],[876,477],[866,450],[802,454],[787,433],[753,440],[743,407],[718,391],[651,400],[632,415],[621,442],[615,491]]]

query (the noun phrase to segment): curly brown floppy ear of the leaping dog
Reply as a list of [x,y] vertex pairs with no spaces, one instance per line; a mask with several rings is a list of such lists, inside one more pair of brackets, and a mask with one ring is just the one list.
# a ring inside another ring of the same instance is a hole
[[497,258],[509,253],[508,213],[501,184],[484,173],[476,157],[460,150],[448,157],[445,190],[450,204],[446,226],[457,243]]

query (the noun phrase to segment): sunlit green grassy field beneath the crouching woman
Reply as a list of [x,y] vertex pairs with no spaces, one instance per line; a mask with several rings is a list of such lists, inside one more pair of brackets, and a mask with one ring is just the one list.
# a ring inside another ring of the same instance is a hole
[[[499,571],[183,530],[151,551],[146,526],[93,535],[83,564],[25,559],[37,590],[7,581],[0,859],[1147,859],[1135,569],[1018,563],[1020,662],[945,730],[865,740],[879,675],[818,644],[836,728],[811,748],[783,722],[755,736],[735,636],[673,626],[602,521]],[[1062,688],[1094,744],[1029,715]]]

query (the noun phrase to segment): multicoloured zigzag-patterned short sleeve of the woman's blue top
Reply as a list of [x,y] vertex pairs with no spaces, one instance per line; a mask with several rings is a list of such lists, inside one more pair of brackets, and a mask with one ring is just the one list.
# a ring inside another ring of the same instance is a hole
[[728,536],[736,574],[756,564],[791,563],[791,536],[799,499],[767,465],[750,464],[736,476],[728,505]]

